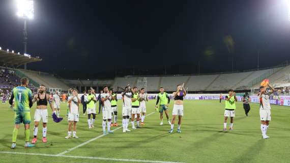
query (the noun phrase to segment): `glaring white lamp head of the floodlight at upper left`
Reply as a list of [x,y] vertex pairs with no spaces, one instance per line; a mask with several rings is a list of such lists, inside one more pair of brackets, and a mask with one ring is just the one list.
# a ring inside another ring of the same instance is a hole
[[31,0],[17,0],[17,13],[16,15],[22,18],[34,18],[34,2]]

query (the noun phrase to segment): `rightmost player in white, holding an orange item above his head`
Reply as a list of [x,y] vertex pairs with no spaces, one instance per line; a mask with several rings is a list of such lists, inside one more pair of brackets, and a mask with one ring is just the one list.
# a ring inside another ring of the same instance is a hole
[[267,130],[269,128],[269,122],[271,121],[271,106],[269,96],[275,91],[275,89],[268,84],[271,89],[269,92],[266,91],[267,87],[261,86],[260,93],[258,94],[260,98],[260,121],[261,121],[261,131],[263,139],[268,139]]

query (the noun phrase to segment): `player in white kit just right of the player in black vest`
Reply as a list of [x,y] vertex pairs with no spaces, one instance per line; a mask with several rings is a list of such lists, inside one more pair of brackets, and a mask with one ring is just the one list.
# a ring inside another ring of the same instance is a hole
[[81,103],[81,99],[78,97],[78,93],[76,89],[72,90],[72,96],[68,98],[68,102],[70,103],[69,115],[68,115],[68,135],[66,139],[71,138],[72,133],[72,125],[73,125],[73,138],[78,138],[76,135],[76,123],[79,119],[79,104]]

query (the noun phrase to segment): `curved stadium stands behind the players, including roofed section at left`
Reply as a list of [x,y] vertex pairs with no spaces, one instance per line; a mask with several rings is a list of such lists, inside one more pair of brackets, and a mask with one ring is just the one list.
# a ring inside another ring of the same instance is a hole
[[[16,53],[0,50],[0,66],[18,67],[25,63],[41,61],[39,58],[27,57]],[[138,85],[138,80],[147,78],[147,91],[157,92],[159,87],[163,87],[166,91],[176,90],[178,84],[185,83],[185,88],[191,92],[208,93],[208,92],[225,92],[228,89],[234,90],[255,90],[259,87],[260,82],[268,78],[274,86],[289,87],[290,86],[290,66],[288,63],[274,68],[264,70],[252,70],[236,73],[216,73],[216,74],[200,74],[200,75],[166,75],[166,76],[125,76],[115,77],[114,79],[60,79],[54,75],[24,69],[11,69],[0,67],[0,87],[13,88],[19,84],[21,77],[30,79],[31,87],[34,89],[43,84],[51,90],[61,89],[68,90],[70,87],[102,87],[109,86],[117,91],[122,91],[128,84],[132,87]],[[140,86],[141,87],[141,86]],[[283,90],[283,89],[282,89]],[[81,90],[83,91],[83,90]]]

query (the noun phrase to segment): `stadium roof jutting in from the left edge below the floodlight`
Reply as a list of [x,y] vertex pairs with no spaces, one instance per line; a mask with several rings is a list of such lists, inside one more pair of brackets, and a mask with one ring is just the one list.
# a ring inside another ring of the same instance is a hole
[[18,55],[11,51],[0,50],[0,66],[21,66],[31,62],[42,61],[42,59]]

